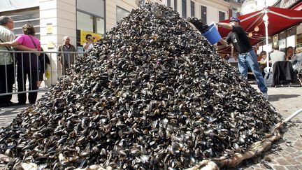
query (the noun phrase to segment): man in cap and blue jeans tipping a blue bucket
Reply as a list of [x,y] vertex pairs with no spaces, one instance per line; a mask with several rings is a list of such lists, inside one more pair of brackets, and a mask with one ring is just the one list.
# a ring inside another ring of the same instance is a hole
[[264,99],[268,99],[267,87],[264,83],[264,78],[257,62],[257,55],[248,40],[245,31],[240,27],[240,20],[238,17],[231,17],[229,23],[217,23],[218,27],[230,29],[226,40],[221,40],[223,45],[232,43],[236,50],[239,52],[238,68],[239,72],[247,79],[247,69],[250,67],[256,80],[259,90],[262,92]]

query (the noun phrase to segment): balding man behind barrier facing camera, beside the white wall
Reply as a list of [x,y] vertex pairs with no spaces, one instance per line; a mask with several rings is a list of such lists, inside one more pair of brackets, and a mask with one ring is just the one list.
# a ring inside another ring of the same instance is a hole
[[69,36],[64,36],[63,43],[58,47],[59,52],[67,52],[67,53],[59,53],[58,59],[62,64],[62,75],[66,74],[66,69],[69,69],[71,64],[74,64],[75,54],[70,54],[68,52],[75,52],[75,46],[71,45]]

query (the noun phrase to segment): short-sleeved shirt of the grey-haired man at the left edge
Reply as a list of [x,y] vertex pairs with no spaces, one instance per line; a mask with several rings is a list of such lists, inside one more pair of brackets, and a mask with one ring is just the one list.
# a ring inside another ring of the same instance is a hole
[[[15,35],[12,31],[10,31],[7,27],[4,27],[0,25],[0,39],[3,42],[10,42],[13,41],[15,38]],[[13,50],[12,48],[8,47],[0,47],[0,50]],[[10,52],[0,52],[0,65],[7,65],[12,64],[13,58],[12,55],[10,55]]]

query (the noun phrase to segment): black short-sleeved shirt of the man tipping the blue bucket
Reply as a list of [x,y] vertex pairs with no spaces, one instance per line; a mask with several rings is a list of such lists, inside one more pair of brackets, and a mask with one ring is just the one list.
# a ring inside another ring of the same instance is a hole
[[229,32],[226,41],[233,43],[233,46],[239,53],[247,52],[252,50],[252,45],[248,40],[245,31],[240,26],[232,25],[233,29]]

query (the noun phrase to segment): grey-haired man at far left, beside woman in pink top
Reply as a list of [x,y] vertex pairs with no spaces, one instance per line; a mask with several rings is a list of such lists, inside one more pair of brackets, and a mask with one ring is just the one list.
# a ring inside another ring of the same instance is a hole
[[[13,41],[15,35],[11,29],[14,28],[13,19],[7,16],[0,17],[0,41]],[[12,50],[5,46],[0,47],[0,50]],[[15,74],[13,66],[13,55],[10,52],[0,52],[0,94],[13,92],[13,84],[15,83]],[[1,106],[14,105],[12,94],[0,96]]]

